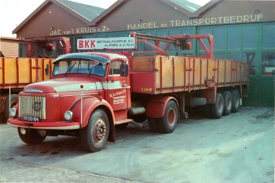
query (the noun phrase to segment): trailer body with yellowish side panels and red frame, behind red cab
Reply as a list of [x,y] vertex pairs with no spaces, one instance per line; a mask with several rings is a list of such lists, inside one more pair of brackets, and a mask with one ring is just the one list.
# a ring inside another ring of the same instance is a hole
[[129,57],[131,92],[161,94],[249,84],[248,63],[193,57]]

